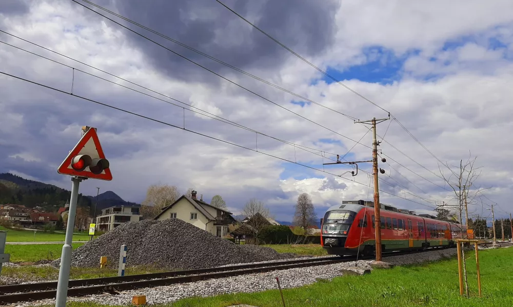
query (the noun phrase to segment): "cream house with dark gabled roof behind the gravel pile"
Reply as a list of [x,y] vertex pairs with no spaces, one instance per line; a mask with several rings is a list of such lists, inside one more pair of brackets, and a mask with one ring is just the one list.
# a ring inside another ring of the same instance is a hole
[[220,209],[196,198],[196,191],[192,196],[182,195],[171,205],[162,208],[154,220],[163,221],[168,218],[179,218],[211,234],[224,237],[228,234],[228,225],[235,223],[230,211]]

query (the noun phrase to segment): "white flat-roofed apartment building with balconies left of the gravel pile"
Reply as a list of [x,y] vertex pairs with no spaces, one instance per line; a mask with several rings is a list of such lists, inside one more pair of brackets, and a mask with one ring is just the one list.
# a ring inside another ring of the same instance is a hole
[[140,206],[112,206],[102,210],[96,216],[96,230],[110,231],[127,222],[139,222],[141,220]]

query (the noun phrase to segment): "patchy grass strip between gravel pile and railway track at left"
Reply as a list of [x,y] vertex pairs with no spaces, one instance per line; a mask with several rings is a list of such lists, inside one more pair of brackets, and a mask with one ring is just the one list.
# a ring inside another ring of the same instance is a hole
[[[125,270],[125,275],[134,274],[147,274],[165,272],[166,270],[155,269],[150,266],[141,267],[128,267]],[[59,269],[53,267],[4,267],[2,269],[2,276],[20,278],[23,280],[57,280],[59,276]],[[97,268],[71,268],[71,279],[85,279],[85,278],[98,278],[98,277],[111,277],[117,276],[117,269],[100,268],[100,260],[98,259]]]

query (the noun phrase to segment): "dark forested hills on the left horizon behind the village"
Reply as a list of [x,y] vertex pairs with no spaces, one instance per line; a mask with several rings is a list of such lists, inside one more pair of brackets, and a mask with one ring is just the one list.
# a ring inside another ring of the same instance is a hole
[[[64,207],[70,196],[71,191],[51,184],[24,179],[11,173],[0,173],[0,204],[18,204],[28,208],[41,206],[45,211],[54,212]],[[94,209],[95,203],[96,195],[78,194],[78,206]],[[97,210],[117,205],[139,204],[126,202],[112,191],[98,195]]]

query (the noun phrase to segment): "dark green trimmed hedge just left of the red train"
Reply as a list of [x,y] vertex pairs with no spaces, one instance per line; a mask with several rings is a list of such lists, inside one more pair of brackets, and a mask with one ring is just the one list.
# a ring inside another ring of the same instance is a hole
[[320,235],[294,234],[288,226],[269,225],[258,234],[262,244],[321,244]]

